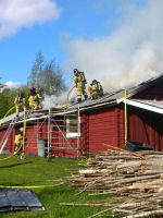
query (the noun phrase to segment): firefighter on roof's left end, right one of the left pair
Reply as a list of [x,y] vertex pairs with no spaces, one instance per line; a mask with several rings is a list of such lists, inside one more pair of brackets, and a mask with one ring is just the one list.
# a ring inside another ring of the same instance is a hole
[[40,95],[40,93],[37,93],[35,87],[32,87],[29,98],[28,98],[29,108],[32,110],[41,109],[41,106],[40,106],[41,98],[42,98],[42,95]]

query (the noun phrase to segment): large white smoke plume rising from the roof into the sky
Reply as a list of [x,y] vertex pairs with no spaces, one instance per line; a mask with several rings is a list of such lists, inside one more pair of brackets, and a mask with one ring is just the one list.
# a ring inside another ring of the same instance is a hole
[[163,0],[124,10],[121,26],[103,38],[70,39],[63,48],[66,68],[84,71],[88,83],[99,80],[104,90],[136,85],[163,73]]

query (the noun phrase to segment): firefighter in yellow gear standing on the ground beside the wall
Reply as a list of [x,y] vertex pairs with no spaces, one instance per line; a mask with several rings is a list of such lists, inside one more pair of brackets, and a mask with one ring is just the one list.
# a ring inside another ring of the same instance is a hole
[[20,128],[20,130],[15,133],[15,141],[14,141],[14,154],[20,155],[22,152],[22,144],[23,144],[23,128]]

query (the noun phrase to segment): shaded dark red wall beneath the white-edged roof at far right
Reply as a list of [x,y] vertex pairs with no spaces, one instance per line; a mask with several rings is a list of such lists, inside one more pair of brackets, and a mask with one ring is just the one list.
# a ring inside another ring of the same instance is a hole
[[163,152],[163,116],[128,106],[128,140]]

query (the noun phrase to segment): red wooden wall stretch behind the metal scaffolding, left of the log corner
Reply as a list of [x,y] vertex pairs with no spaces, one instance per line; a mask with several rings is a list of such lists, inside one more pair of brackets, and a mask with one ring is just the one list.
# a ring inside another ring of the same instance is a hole
[[[61,120],[61,121],[60,121]],[[64,121],[65,122],[65,121]],[[59,126],[59,128],[58,128]],[[63,123],[63,118],[57,118],[57,122],[52,122],[50,126],[51,131],[51,146],[52,146],[52,155],[58,156],[77,156],[77,138],[70,137],[67,138],[65,135],[65,130],[63,130],[65,123]],[[13,129],[12,134],[8,138],[4,149],[9,149],[14,153],[14,137],[15,132],[20,129],[20,126],[15,126]],[[46,150],[48,147],[48,123],[45,122],[41,125],[41,121],[38,123],[27,123],[26,125],[26,137],[25,137],[25,153],[30,153],[33,155],[38,155],[38,140],[45,141]],[[0,131],[0,142],[5,134],[7,130]],[[64,135],[64,136],[63,136]],[[78,140],[78,142],[80,138]],[[64,147],[64,148],[63,148]],[[72,149],[68,149],[72,147]],[[78,153],[79,155],[80,153]]]

